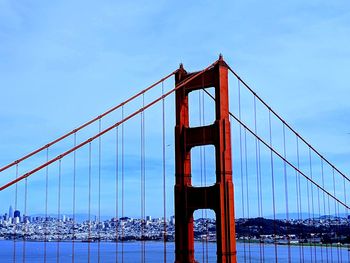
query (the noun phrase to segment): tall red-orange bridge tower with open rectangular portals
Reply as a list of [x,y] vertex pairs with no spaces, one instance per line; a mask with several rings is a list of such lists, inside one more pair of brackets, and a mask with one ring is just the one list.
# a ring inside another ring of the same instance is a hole
[[[194,76],[182,66],[175,76],[179,83]],[[215,88],[215,121],[212,125],[189,127],[188,94]],[[191,148],[215,146],[216,183],[208,187],[191,184]],[[236,262],[234,190],[232,183],[231,130],[228,102],[228,66],[220,56],[217,63],[176,90],[175,127],[175,262],[194,259],[193,212],[212,209],[216,214],[217,262]]]

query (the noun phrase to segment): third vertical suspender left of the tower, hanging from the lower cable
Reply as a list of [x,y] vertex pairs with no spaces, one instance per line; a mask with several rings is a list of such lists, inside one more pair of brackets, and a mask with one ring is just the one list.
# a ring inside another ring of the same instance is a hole
[[119,230],[119,131],[115,128],[115,262],[118,263],[118,230]]

